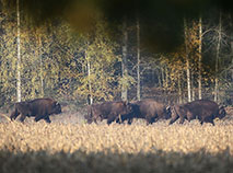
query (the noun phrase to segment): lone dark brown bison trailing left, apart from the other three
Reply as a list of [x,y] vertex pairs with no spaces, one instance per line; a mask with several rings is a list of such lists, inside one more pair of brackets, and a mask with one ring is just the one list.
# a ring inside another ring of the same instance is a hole
[[58,102],[51,99],[36,99],[33,101],[18,102],[14,104],[14,109],[11,113],[11,120],[15,119],[21,115],[20,120],[31,116],[35,117],[35,122],[39,119],[45,119],[47,123],[51,123],[49,115],[60,114],[61,106]]

